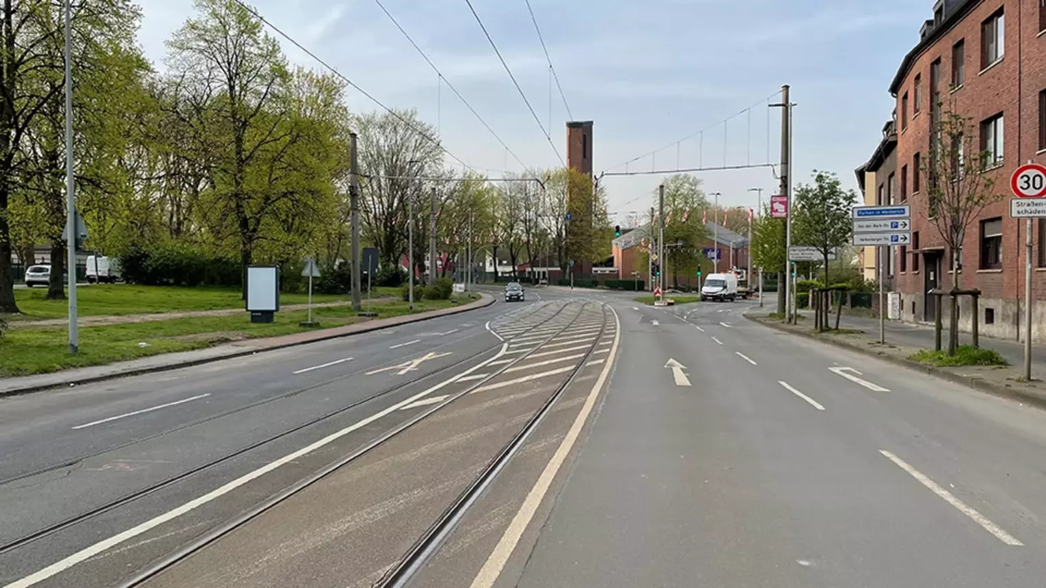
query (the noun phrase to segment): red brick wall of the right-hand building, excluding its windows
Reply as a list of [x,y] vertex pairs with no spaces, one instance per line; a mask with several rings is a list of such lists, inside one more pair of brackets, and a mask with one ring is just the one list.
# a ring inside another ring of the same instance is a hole
[[[948,252],[935,225],[927,220],[925,187],[927,179],[916,178],[916,154],[925,162],[931,144],[931,101],[934,100],[933,64],[939,60],[939,99],[943,110],[958,112],[972,119],[975,131],[983,134],[981,122],[1003,115],[1003,163],[987,172],[995,179],[995,190],[1002,196],[990,205],[967,229],[962,247],[963,270],[960,288],[979,288],[985,304],[993,310],[993,323],[1000,323],[998,335],[1016,336],[1008,329],[1019,322],[1016,300],[1024,292],[1024,222],[1009,219],[1009,177],[1021,163],[1046,163],[1046,151],[1040,151],[1040,92],[1046,91],[1046,35],[1040,36],[1042,0],[970,0],[958,3],[956,12],[931,27],[927,40],[906,58],[891,92],[896,96],[897,184],[894,202],[912,205],[912,248],[907,258],[895,259],[896,286],[904,295],[904,316],[925,320],[932,311],[923,308],[923,294],[932,286],[929,272],[941,287],[951,285]],[[999,13],[1003,15],[1003,55],[984,66],[983,24]],[[1046,21],[1043,21],[1046,22]],[[964,72],[961,85],[953,88],[953,54],[962,43]],[[920,88],[916,90],[916,81]],[[917,96],[916,101],[916,94]],[[915,111],[918,111],[916,114]],[[978,136],[978,144],[980,136]],[[900,176],[906,177],[902,178]],[[917,191],[918,187],[922,191]],[[1002,219],[1001,268],[982,268],[981,221]],[[1044,244],[1036,227],[1032,264],[1040,270]],[[917,238],[916,238],[917,234]],[[917,245],[915,240],[917,241]],[[914,249],[917,248],[917,251]],[[900,255],[900,249],[893,249]],[[936,267],[939,263],[939,269]],[[904,269],[905,271],[900,271]],[[1034,272],[1036,298],[1046,299],[1046,272]],[[1006,302],[1009,303],[1006,303]],[[1011,307],[1007,311],[1005,307]],[[1038,314],[1038,310],[1037,310]],[[984,316],[981,323],[984,323]],[[969,320],[969,319],[968,319]],[[967,322],[967,321],[963,321]],[[987,333],[992,334],[991,324]]]

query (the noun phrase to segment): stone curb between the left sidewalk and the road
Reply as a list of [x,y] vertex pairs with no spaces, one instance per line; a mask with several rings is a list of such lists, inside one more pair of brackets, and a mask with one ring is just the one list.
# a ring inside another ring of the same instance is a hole
[[[117,378],[128,378],[128,377],[132,377],[132,376],[141,376],[143,374],[155,374],[155,372],[159,372],[159,371],[170,371],[173,369],[181,369],[183,367],[194,367],[194,366],[203,365],[203,364],[206,364],[206,363],[213,363],[213,362],[218,362],[218,361],[224,361],[224,360],[227,360],[227,359],[236,359],[236,358],[252,356],[252,355],[260,354],[260,353],[265,353],[265,352],[274,352],[274,350],[277,350],[277,349],[286,349],[288,347],[296,347],[296,346],[299,346],[299,345],[308,345],[308,344],[311,344],[311,343],[319,343],[319,342],[322,342],[322,341],[329,341],[329,340],[333,340],[333,339],[341,339],[341,338],[344,338],[344,337],[351,337],[354,335],[362,335],[364,333],[372,333],[374,331],[382,331],[384,329],[390,329],[390,327],[400,326],[400,325],[403,325],[403,324],[410,324],[410,323],[414,323],[414,322],[422,322],[422,321],[430,320],[430,319],[433,319],[433,318],[439,318],[439,317],[450,316],[450,315],[456,315],[456,314],[460,314],[460,313],[464,313],[464,312],[473,311],[473,310],[477,310],[477,309],[483,309],[483,308],[490,307],[491,304],[493,304],[496,301],[496,298],[494,298],[493,296],[491,296],[488,294],[480,294],[480,296],[482,296],[482,298],[480,298],[479,300],[476,300],[474,302],[469,302],[468,304],[462,304],[460,307],[451,307],[449,309],[440,309],[440,310],[437,310],[437,311],[430,311],[428,313],[423,313],[420,315],[401,315],[401,316],[397,316],[397,317],[390,317],[388,319],[385,319],[385,320],[389,320],[390,321],[388,323],[378,324],[378,325],[373,325],[373,326],[363,326],[363,327],[360,327],[359,330],[353,331],[350,333],[332,333],[332,334],[323,335],[322,331],[319,331],[319,332],[316,333],[317,337],[312,338],[312,339],[308,339],[308,340],[303,340],[303,341],[289,341],[287,343],[278,343],[278,344],[273,344],[273,345],[269,345],[269,346],[259,346],[259,347],[244,347],[242,350],[232,350],[232,352],[229,352],[228,354],[217,355],[217,356],[212,356],[212,357],[188,359],[188,360],[178,361],[178,362],[169,363],[169,364],[150,365],[150,366],[144,366],[144,367],[134,367],[134,368],[129,368],[129,369],[126,369],[126,370],[122,370],[122,371],[114,371],[114,372],[111,372],[111,374],[100,374],[100,375],[97,375],[97,376],[84,376],[84,377],[78,377],[78,378],[77,377],[73,377],[73,378],[65,379],[65,380],[58,381],[58,382],[49,382],[47,384],[29,384],[29,385],[21,386],[21,387],[18,387],[18,388],[8,388],[8,389],[5,389],[5,390],[0,390],[0,399],[8,398],[8,397],[15,397],[15,395],[21,395],[21,394],[27,394],[27,393],[31,393],[31,392],[39,392],[39,391],[42,391],[42,390],[49,390],[49,389],[53,389],[53,388],[77,386],[77,385],[82,385],[82,384],[93,384],[93,383],[96,383],[96,382],[105,382],[107,380],[115,380]],[[409,319],[409,320],[396,320],[396,319]],[[371,321],[371,322],[377,322],[377,321]],[[360,324],[367,324],[367,323],[364,322],[364,323],[360,323]],[[333,329],[337,329],[337,327],[333,327]],[[281,337],[286,337],[286,335],[281,336]],[[265,341],[265,338],[248,339],[247,341],[253,341],[253,342]],[[155,356],[155,357],[162,357],[162,355]],[[90,367],[101,367],[101,366],[90,366]],[[59,371],[58,374],[61,374],[61,371]],[[2,382],[2,381],[3,381],[3,379],[0,379],[0,382]]]

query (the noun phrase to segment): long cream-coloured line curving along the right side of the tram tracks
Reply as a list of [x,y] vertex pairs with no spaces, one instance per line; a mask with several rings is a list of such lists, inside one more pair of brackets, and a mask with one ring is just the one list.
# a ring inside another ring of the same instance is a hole
[[[614,321],[617,324],[617,332],[620,333],[620,318],[617,316],[617,312],[613,308],[610,308],[610,312],[614,313]],[[617,348],[620,344],[620,336],[614,340],[614,346],[611,352],[614,354],[613,357],[617,356]],[[599,377],[596,379],[595,384],[592,385],[592,391],[589,392],[588,398],[585,399],[585,404],[582,405],[581,411],[577,413],[577,417],[574,419],[573,424],[567,431],[567,434],[560,442],[560,447],[556,448],[555,453],[552,458],[548,460],[545,469],[541,472],[541,476],[538,477],[538,481],[535,482],[533,488],[527,493],[526,498],[523,499],[523,504],[520,505],[519,512],[513,517],[511,522],[508,523],[508,527],[505,528],[504,534],[498,541],[498,544],[494,547],[494,551],[483,563],[483,567],[480,568],[479,573],[473,579],[471,588],[491,588],[494,583],[497,582],[498,576],[501,575],[501,570],[504,569],[505,563],[508,562],[508,558],[513,555],[516,549],[516,545],[519,544],[520,538],[523,536],[523,532],[530,524],[533,519],[535,514],[538,512],[538,507],[541,505],[542,500],[548,493],[548,489],[552,485],[552,480],[555,479],[555,474],[559,473],[560,468],[567,460],[567,456],[570,454],[570,450],[573,449],[574,444],[577,443],[577,437],[581,436],[582,429],[585,428],[585,423],[589,419],[589,414],[592,412],[595,403],[599,398],[599,392],[602,390],[604,385],[607,382],[607,378],[610,376],[611,367],[614,363],[608,361],[604,365],[602,370],[599,371]]]

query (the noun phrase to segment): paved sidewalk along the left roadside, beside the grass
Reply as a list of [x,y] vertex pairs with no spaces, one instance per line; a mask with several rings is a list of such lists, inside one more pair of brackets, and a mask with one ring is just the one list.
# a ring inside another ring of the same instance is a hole
[[[402,315],[390,318],[367,319],[361,322],[346,324],[344,326],[321,329],[319,331],[305,331],[301,333],[293,333],[291,335],[282,335],[279,337],[248,339],[245,341],[215,345],[204,349],[164,354],[131,361],[110,363],[108,365],[77,367],[74,369],[55,371],[53,374],[39,374],[36,376],[21,376],[17,378],[0,378],[0,398],[35,392],[59,386],[89,384],[91,382],[98,382],[112,378],[190,367],[223,359],[249,356],[262,352],[282,349],[285,347],[326,341],[340,337],[348,337],[360,333],[369,333],[371,331],[379,331],[410,322],[419,322],[441,316],[481,309],[494,303],[494,297],[487,294],[480,294],[480,296],[482,297],[475,302],[469,302],[468,304],[462,304],[460,307],[440,309],[438,311],[430,311],[427,313]],[[286,308],[289,307],[285,307],[285,309]]]

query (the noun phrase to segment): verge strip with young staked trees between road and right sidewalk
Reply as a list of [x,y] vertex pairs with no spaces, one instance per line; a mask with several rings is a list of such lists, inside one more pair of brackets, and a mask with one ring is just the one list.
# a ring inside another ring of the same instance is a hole
[[[1022,370],[1020,366],[936,365],[942,363],[942,360],[932,349],[893,345],[889,343],[888,339],[887,343],[883,345],[879,342],[877,336],[869,335],[863,331],[843,330],[839,332],[827,331],[824,333],[815,333],[809,324],[789,324],[780,317],[765,314],[745,314],[744,316],[748,320],[790,335],[806,337],[808,339],[871,356],[902,367],[936,376],[950,382],[969,386],[975,390],[1046,408],[1046,382],[1040,380],[1024,381],[1021,376]],[[967,352],[967,355],[978,361],[988,361],[984,360],[985,354],[983,352],[985,349],[980,349],[980,352],[982,353]],[[991,361],[995,363],[994,359]]]

